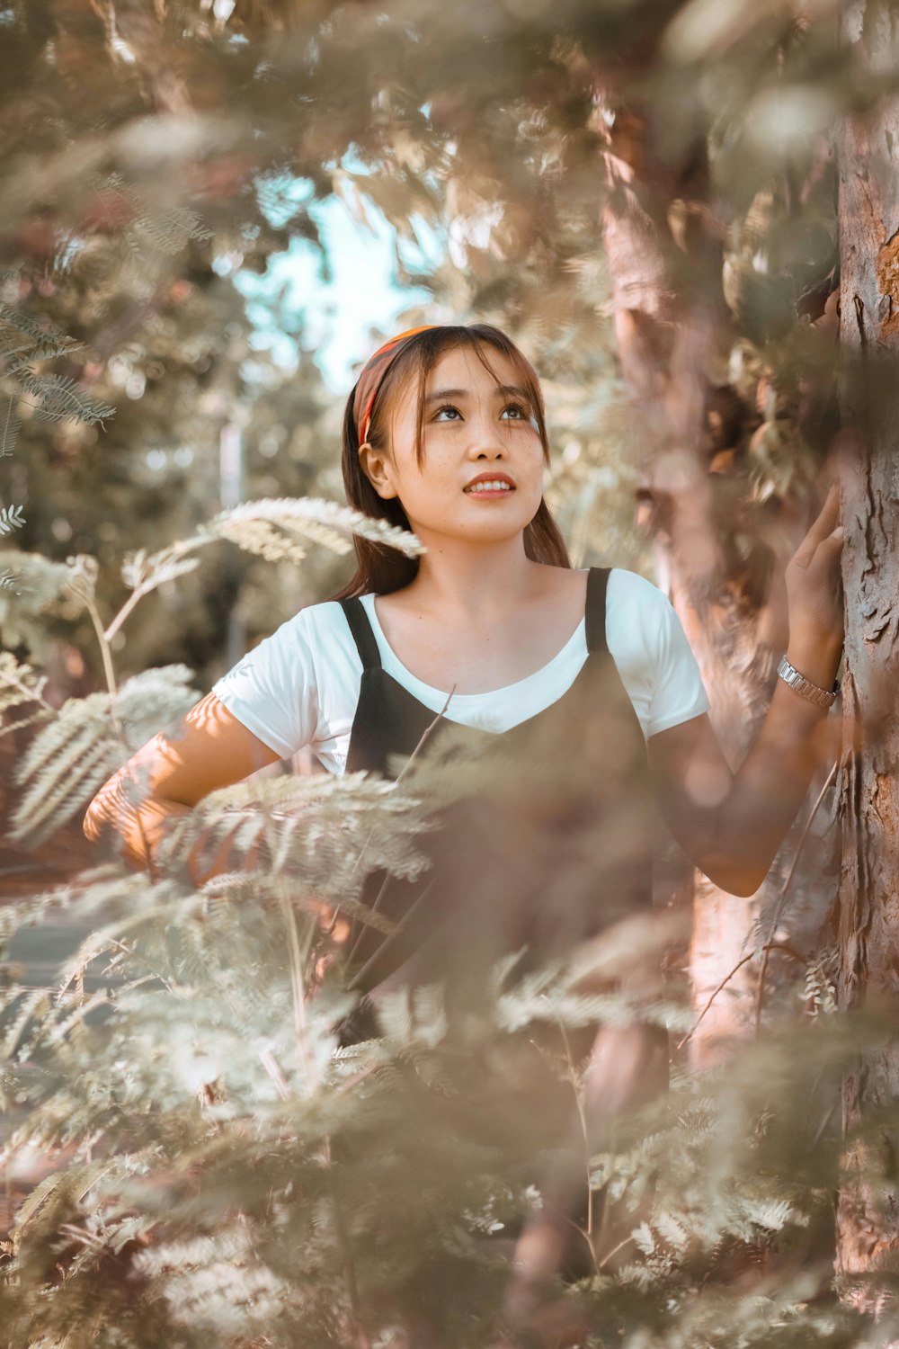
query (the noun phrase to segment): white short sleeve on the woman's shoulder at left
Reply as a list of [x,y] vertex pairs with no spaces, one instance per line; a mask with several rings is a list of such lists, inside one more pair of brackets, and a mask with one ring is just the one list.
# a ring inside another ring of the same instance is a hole
[[212,687],[228,711],[282,758],[315,739],[315,653],[303,610],[264,637]]

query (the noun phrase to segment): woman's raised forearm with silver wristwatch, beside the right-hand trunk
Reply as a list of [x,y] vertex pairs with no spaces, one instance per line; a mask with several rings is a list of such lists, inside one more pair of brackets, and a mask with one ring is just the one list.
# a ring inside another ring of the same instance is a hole
[[[813,684],[830,689],[841,650],[833,643],[797,638],[787,660]],[[778,679],[762,730],[718,807],[709,869],[702,867],[712,880],[726,889],[729,876],[733,893],[755,893],[833,743],[828,710]]]

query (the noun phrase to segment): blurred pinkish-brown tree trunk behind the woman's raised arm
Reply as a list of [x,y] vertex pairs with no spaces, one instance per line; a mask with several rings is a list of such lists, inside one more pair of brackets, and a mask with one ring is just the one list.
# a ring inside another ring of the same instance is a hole
[[[698,658],[710,719],[736,769],[766,715],[776,664],[787,649],[783,568],[810,521],[801,514],[801,492],[779,503],[779,515],[745,503],[741,455],[759,417],[726,382],[714,379],[733,333],[722,297],[720,229],[709,209],[705,128],[698,124],[677,161],[663,161],[654,152],[664,138],[652,115],[628,107],[604,76],[597,86],[613,109],[601,127],[602,232],[617,345],[635,414],[646,425],[638,518],[652,537],[659,581]],[[737,545],[741,530],[748,537],[757,532],[752,546]],[[811,784],[809,803],[825,776]],[[821,847],[834,801],[832,788],[810,831],[817,838],[793,873],[786,908],[780,892],[806,809],[753,897],[726,894],[695,874],[690,975],[697,1013],[705,1013],[691,1040],[695,1066],[716,1059],[722,1041],[745,1036],[756,1024],[760,960],[741,962],[774,935],[780,911],[778,935],[814,948],[834,890],[826,870],[836,830]],[[770,985],[782,977],[782,960],[771,958]],[[726,992],[713,997],[725,979]]]

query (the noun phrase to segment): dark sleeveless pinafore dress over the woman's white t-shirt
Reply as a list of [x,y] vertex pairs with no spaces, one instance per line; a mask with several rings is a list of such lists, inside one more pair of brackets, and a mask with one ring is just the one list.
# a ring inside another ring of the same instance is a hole
[[402,931],[354,927],[350,982],[364,998],[341,1028],[344,1043],[372,1033],[379,992],[443,981],[470,1005],[501,956],[519,952],[523,971],[651,909],[658,816],[643,731],[605,639],[608,577],[608,568],[588,572],[588,657],[573,684],[499,734],[425,707],[383,669],[361,602],[340,602],[363,664],[346,772],[395,778],[429,727],[421,755],[450,737],[492,765],[483,789],[442,807],[439,827],[416,838],[429,870],[414,881],[367,877],[361,901],[377,897]]

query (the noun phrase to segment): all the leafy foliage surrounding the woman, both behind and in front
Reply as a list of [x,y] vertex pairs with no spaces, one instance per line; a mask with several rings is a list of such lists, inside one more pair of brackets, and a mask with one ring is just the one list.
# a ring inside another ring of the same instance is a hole
[[[18,266],[0,281],[0,712],[3,743],[26,742],[16,839],[75,819],[183,711],[236,596],[271,629],[279,606],[333,588],[332,554],[367,527],[336,506],[336,409],[309,353],[284,375],[253,352],[229,279],[294,236],[317,243],[309,208],[329,193],[360,216],[375,205],[406,243],[418,223],[442,231],[446,258],[416,277],[434,313],[496,321],[531,355],[576,565],[650,567],[632,496],[644,523],[658,401],[625,414],[613,359],[640,278],[613,278],[597,248],[623,205],[647,239],[664,227],[669,275],[713,316],[700,452],[740,507],[736,525],[722,515],[728,549],[744,561],[780,513],[801,514],[833,374],[830,130],[899,69],[884,59],[872,81],[857,66],[838,7],[75,8],[16,0],[1,16],[0,233]],[[640,119],[651,162],[623,185],[616,155]],[[286,202],[286,179],[309,197]],[[685,403],[694,375],[681,371]],[[236,511],[218,499],[228,424],[249,447]],[[248,569],[221,563],[225,542]],[[139,602],[147,621],[125,633]],[[97,638],[104,692],[47,696],[49,634]],[[1,911],[11,939],[53,913],[92,928],[57,989],[24,986],[13,951],[3,970],[8,1156],[71,1149],[19,1213],[0,1286],[11,1349],[487,1344],[509,1234],[539,1203],[535,1156],[558,1145],[543,1106],[582,1086],[559,1021],[633,1009],[584,998],[566,970],[515,987],[497,970],[473,1025],[423,989],[381,1008],[379,1037],[338,1048],[353,1000],[333,909],[377,924],[361,880],[418,865],[419,805],[412,782],[244,784],[173,831],[160,877],[113,861]],[[225,839],[247,865],[195,889],[187,853]],[[805,1002],[802,1024],[721,1072],[677,1075],[585,1157],[623,1233],[562,1290],[584,1342],[891,1333],[836,1303],[829,1265],[837,1079],[881,1027],[844,1025],[826,956]],[[642,1014],[687,1029],[679,1006]],[[546,1052],[522,1095],[531,1031]],[[877,1126],[853,1125],[886,1202]]]

